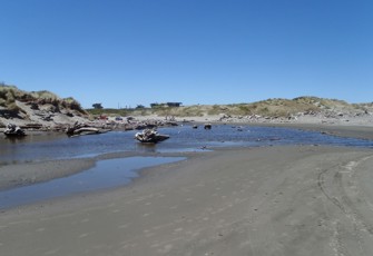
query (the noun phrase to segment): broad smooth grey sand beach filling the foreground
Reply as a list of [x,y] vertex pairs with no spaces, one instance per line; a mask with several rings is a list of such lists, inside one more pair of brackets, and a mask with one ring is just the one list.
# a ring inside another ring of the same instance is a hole
[[[361,130],[371,138],[366,127],[328,131],[361,136]],[[371,149],[342,147],[190,154],[186,160],[143,170],[128,186],[3,210],[0,252],[371,255],[372,164]],[[71,166],[66,165],[77,171]],[[45,177],[39,169],[35,174]]]

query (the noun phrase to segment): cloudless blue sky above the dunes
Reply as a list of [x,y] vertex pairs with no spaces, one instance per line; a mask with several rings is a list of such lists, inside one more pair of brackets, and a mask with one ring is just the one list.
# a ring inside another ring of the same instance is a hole
[[86,108],[373,101],[372,0],[0,0],[0,81]]

